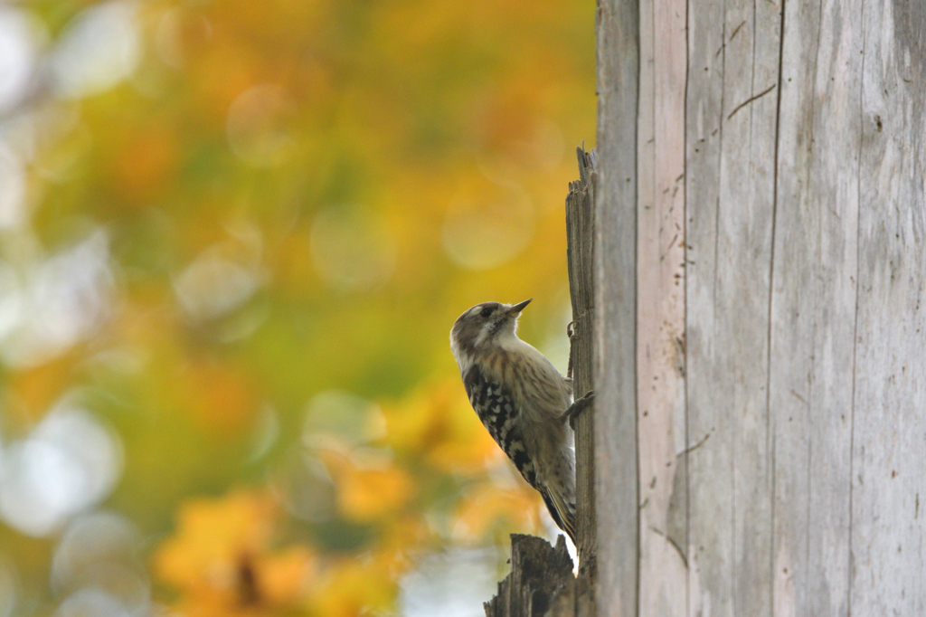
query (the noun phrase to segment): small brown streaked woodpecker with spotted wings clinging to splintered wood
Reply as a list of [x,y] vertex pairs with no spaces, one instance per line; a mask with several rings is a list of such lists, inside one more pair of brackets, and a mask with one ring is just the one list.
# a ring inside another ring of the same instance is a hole
[[518,338],[520,313],[530,303],[483,302],[467,309],[450,330],[450,348],[472,409],[575,544],[569,418],[587,407],[594,393],[573,402],[572,380]]

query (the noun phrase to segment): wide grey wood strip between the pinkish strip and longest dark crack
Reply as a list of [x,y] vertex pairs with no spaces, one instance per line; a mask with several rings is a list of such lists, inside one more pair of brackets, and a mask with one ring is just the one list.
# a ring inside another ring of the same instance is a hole
[[[782,3],[693,0],[686,120],[688,612],[771,611],[769,309]],[[798,3],[794,3],[795,5]],[[695,591],[696,590],[696,591]]]

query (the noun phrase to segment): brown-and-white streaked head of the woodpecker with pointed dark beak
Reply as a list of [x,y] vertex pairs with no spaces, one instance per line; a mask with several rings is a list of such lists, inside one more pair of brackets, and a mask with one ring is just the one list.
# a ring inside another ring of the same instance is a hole
[[450,347],[460,366],[517,339],[518,317],[530,303],[483,302],[460,315],[450,330]]

